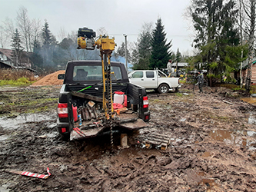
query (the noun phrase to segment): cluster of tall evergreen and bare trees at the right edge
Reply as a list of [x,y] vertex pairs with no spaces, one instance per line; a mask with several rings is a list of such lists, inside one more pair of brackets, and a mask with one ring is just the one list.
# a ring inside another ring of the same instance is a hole
[[[190,58],[191,68],[208,70],[210,86],[223,76],[240,71],[247,59],[245,88],[251,86],[251,64],[254,58],[256,0],[192,0],[188,8],[198,53]],[[236,73],[235,73],[236,74]],[[239,83],[242,82],[240,78]]]

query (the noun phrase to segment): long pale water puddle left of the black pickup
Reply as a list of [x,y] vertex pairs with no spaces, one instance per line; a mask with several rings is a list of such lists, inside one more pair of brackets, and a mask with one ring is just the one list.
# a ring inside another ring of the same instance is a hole
[[21,114],[16,118],[0,118],[0,127],[4,129],[17,129],[25,123],[49,121],[54,118],[55,114]]

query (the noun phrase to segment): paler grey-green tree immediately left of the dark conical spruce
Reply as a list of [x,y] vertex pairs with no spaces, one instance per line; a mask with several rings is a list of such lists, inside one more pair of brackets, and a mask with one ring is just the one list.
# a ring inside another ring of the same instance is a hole
[[131,62],[133,69],[148,69],[151,58],[151,23],[145,23],[142,26],[141,34],[135,48],[132,51]]

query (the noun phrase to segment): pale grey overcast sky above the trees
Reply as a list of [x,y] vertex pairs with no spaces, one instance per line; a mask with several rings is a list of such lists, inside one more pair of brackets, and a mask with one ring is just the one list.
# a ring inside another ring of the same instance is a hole
[[[58,39],[61,28],[67,33],[88,27],[95,31],[104,27],[108,35],[115,37],[117,45],[125,41],[137,41],[142,25],[158,18],[165,25],[166,38],[172,40],[172,51],[191,52],[193,31],[183,16],[191,0],[0,0],[0,25],[6,17],[15,24],[18,8],[28,9],[30,19],[45,19],[52,34]],[[97,34],[98,35],[98,34]],[[61,39],[58,39],[61,41]]]

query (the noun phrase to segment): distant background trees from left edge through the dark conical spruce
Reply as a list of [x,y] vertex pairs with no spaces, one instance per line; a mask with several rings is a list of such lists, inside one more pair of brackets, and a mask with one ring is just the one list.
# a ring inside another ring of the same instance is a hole
[[[32,68],[45,69],[65,66],[67,61],[80,59],[100,59],[98,50],[77,50],[77,34],[71,31],[66,34],[60,31],[62,38],[58,42],[49,29],[47,20],[44,25],[28,17],[28,10],[21,6],[18,9],[16,25],[6,18],[0,25],[0,45],[5,48],[12,41],[12,61],[14,65],[23,65],[31,61]],[[105,28],[97,30],[98,35],[108,35]],[[165,68],[168,59],[175,54],[171,52],[171,41],[165,38],[165,28],[158,18],[153,30],[151,23],[142,26],[138,41],[128,49],[128,61],[133,69]],[[180,53],[179,53],[180,54]],[[114,60],[125,57],[123,42],[113,54]]]

